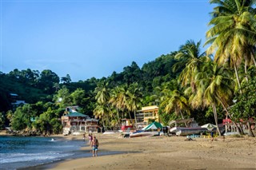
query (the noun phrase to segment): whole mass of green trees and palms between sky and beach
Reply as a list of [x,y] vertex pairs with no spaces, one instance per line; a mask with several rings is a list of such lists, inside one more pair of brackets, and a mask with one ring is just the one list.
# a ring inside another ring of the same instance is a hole
[[[1,73],[0,124],[58,133],[63,109],[79,105],[82,113],[100,118],[105,128],[116,128],[121,118],[136,118],[142,106],[158,105],[165,125],[176,118],[194,117],[202,125],[230,117],[236,123],[242,119],[250,128],[249,120],[256,117],[255,1],[210,3],[216,7],[205,52],[201,42],[190,40],[142,68],[132,62],[121,73],[78,82],[69,75],[59,78],[51,70]],[[12,108],[10,93],[29,104]]]

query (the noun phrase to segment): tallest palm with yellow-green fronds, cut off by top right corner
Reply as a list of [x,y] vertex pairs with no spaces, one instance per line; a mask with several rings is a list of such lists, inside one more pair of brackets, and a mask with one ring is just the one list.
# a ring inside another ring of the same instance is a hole
[[256,66],[255,0],[210,0],[210,3],[218,6],[211,13],[209,25],[212,27],[206,33],[205,45],[210,44],[207,53],[215,53],[218,64],[229,63],[234,68],[241,88],[238,67],[243,62],[247,73],[247,65]]

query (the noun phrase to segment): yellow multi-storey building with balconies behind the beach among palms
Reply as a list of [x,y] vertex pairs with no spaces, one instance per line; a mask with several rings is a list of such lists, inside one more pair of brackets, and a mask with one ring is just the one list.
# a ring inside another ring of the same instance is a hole
[[150,121],[158,121],[160,123],[160,117],[158,115],[158,106],[150,105],[142,107],[141,110],[138,110],[136,118],[138,128],[149,125],[151,123]]

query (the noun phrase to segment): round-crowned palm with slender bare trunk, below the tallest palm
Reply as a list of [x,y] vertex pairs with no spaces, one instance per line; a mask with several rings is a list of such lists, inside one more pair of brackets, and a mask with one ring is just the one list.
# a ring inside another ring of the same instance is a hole
[[197,87],[200,93],[197,95],[202,95],[202,107],[211,106],[214,112],[214,121],[217,125],[218,134],[221,132],[218,128],[218,115],[216,107],[222,105],[226,109],[226,105],[232,98],[233,88],[232,79],[230,78],[229,69],[224,66],[219,66],[216,63],[210,61],[202,68],[202,71],[198,73],[195,77],[197,81]]

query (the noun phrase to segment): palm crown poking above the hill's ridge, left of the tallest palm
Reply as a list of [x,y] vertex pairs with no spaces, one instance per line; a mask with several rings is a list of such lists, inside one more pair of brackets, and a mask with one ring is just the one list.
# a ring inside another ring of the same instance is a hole
[[185,45],[179,48],[179,53],[175,55],[175,59],[178,62],[173,66],[173,70],[185,67],[182,69],[182,73],[179,75],[179,80],[182,82],[182,86],[186,86],[190,83],[193,86],[192,74],[198,73],[198,69],[202,64],[202,61],[209,61],[210,57],[206,57],[206,53],[200,53],[201,41],[195,43],[193,40],[187,41]]

